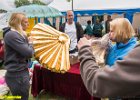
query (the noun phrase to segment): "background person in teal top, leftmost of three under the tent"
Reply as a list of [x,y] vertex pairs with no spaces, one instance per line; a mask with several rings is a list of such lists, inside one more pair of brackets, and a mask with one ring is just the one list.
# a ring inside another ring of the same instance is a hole
[[87,21],[87,26],[86,26],[86,29],[84,31],[84,36],[87,39],[90,39],[93,36],[93,29],[91,28],[91,21],[90,20]]

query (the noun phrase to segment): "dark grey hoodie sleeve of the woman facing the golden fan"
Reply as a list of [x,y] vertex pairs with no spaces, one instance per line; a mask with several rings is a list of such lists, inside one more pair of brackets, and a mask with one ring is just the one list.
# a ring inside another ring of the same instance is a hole
[[5,43],[23,57],[32,57],[34,54],[32,45],[28,44],[28,42],[25,42],[24,38],[18,34],[19,33],[16,32],[7,33],[4,38]]

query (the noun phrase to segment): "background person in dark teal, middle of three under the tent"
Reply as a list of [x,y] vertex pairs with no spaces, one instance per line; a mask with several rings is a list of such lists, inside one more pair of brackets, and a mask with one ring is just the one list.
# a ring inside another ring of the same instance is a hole
[[102,37],[102,30],[103,30],[103,26],[100,20],[97,18],[96,23],[93,26],[93,35],[95,37]]

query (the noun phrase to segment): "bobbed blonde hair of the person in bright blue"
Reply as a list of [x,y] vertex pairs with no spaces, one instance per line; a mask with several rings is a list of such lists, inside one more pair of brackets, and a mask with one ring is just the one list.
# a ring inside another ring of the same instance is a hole
[[127,42],[134,36],[134,29],[126,18],[116,18],[110,22],[110,28],[115,32],[116,42]]

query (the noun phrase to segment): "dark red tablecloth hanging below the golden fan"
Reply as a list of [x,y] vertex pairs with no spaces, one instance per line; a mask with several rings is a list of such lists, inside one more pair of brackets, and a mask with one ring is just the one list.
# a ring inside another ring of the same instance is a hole
[[42,89],[74,100],[100,100],[92,97],[86,90],[80,76],[79,63],[72,65],[65,74],[54,73],[35,65],[31,90],[33,96],[37,96]]

